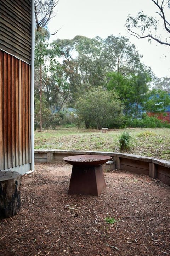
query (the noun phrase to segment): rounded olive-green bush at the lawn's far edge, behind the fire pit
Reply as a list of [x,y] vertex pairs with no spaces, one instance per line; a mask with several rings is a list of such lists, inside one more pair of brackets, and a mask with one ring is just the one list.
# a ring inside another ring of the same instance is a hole
[[77,102],[77,115],[86,128],[101,129],[113,120],[115,123],[119,122],[122,110],[117,94],[103,90],[102,87],[91,89]]

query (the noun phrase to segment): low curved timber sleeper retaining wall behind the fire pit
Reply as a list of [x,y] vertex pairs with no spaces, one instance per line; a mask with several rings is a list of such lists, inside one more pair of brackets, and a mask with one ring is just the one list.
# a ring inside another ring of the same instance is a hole
[[112,156],[115,168],[134,173],[149,175],[158,178],[170,185],[170,162],[152,157],[144,157],[126,153],[101,152],[101,151],[69,151],[69,150],[35,150],[35,163],[61,162],[63,157],[96,154]]

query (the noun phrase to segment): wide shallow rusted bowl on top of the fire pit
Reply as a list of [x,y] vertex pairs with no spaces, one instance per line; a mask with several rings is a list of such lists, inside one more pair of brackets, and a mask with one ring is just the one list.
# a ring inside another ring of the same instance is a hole
[[98,166],[111,159],[112,157],[103,155],[78,155],[63,158],[64,161],[74,166]]

